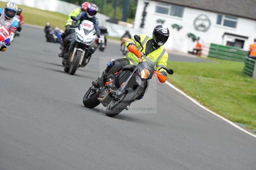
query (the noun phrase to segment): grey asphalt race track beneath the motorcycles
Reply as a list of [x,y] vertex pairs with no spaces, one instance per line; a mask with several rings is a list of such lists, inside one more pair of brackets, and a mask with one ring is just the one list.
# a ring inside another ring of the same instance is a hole
[[14,41],[0,54],[0,170],[255,170],[254,137],[155,78],[114,118],[85,108],[119,44],[71,76],[42,29],[24,26]]

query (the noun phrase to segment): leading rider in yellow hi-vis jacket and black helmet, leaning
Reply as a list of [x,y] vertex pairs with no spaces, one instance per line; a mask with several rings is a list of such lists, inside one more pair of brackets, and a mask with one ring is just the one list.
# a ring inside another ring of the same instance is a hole
[[[153,37],[149,37],[147,35],[139,35],[140,41],[144,47],[142,53],[146,55],[143,61],[149,61],[156,66],[158,70],[161,67],[167,66],[168,61],[168,53],[164,50],[164,43],[168,40],[169,37],[169,29],[162,25],[157,25],[153,30]],[[125,42],[125,46],[128,48],[129,45],[136,45],[137,49],[140,51],[141,46],[138,42],[136,42],[133,38],[128,39]],[[92,81],[92,85],[95,88],[99,88],[103,86],[105,83],[106,77],[109,75],[114,75],[116,72],[121,70],[126,65],[138,65],[139,59],[135,54],[129,52],[124,58],[119,59],[111,59],[109,60],[106,69],[103,71],[101,77],[99,77],[96,81]],[[167,76],[166,71],[164,69],[159,70],[162,75]]]

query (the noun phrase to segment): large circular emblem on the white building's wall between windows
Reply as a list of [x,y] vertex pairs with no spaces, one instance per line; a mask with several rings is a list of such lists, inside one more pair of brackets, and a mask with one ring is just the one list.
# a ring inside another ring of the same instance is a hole
[[209,17],[205,14],[201,14],[194,20],[194,27],[197,31],[206,32],[211,27],[212,23]]

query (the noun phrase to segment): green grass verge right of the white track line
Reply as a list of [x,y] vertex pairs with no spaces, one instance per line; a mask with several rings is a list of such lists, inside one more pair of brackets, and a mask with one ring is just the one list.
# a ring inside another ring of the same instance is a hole
[[168,79],[210,110],[256,131],[256,80],[243,76],[244,63],[213,59],[215,63],[168,62]]

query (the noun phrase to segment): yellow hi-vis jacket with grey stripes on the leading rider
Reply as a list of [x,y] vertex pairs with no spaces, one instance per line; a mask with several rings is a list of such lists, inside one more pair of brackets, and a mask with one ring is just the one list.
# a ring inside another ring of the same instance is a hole
[[[139,35],[139,36],[140,36],[140,41],[142,42],[142,45],[144,48],[142,50],[142,53],[146,54],[146,44],[147,44],[148,40],[151,40],[152,38],[147,35],[143,35],[143,34]],[[127,40],[125,42],[125,46],[127,47],[129,45],[129,43],[136,44],[137,49],[139,51],[141,50],[140,44],[138,42],[136,42],[133,38]],[[136,55],[131,52],[129,52],[124,58],[127,58],[130,61],[130,64],[138,65],[138,63],[139,63],[138,57],[136,57]],[[142,57],[142,58],[144,58],[144,57]],[[155,51],[148,54],[147,57],[145,57],[143,59],[143,61],[151,62],[153,64],[153,66],[156,66],[156,70],[158,70],[160,67],[167,66],[168,53],[164,50],[164,47],[161,46],[158,49],[156,49]],[[166,73],[166,71],[164,69],[160,69],[160,71],[164,71]]]

